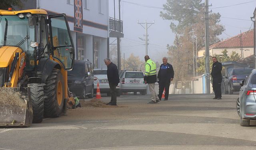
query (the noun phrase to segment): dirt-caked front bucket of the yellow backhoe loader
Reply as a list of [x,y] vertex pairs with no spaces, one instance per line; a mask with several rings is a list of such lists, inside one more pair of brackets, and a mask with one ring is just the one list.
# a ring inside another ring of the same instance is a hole
[[18,88],[0,88],[0,127],[29,127],[32,120],[30,96],[23,95]]

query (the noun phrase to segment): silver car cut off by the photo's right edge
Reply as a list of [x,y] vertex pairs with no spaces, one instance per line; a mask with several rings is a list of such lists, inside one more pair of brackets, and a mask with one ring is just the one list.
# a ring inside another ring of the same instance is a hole
[[252,70],[246,81],[240,82],[239,98],[236,110],[241,126],[250,126],[250,120],[256,120],[256,70]]

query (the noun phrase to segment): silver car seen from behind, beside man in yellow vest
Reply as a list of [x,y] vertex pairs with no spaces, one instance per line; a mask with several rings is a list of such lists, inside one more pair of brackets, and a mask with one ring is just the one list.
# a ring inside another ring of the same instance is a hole
[[122,92],[137,92],[145,95],[147,92],[147,85],[144,84],[144,74],[141,70],[122,70],[120,76],[120,89]]

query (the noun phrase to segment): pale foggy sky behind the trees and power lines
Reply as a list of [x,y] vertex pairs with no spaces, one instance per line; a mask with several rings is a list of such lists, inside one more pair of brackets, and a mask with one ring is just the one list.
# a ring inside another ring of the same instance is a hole
[[[116,18],[118,17],[118,0],[116,1]],[[148,8],[143,6],[137,6],[127,2],[134,2],[138,4],[144,4],[148,6],[163,7],[166,0],[124,0],[121,1],[121,20],[124,21],[124,38],[121,38],[121,53],[122,58],[125,53],[125,58],[128,58],[131,53],[136,56],[140,56],[141,60],[144,60],[145,54],[145,42],[140,40],[138,37],[144,38],[145,29],[137,23],[140,22],[154,22],[148,29],[148,55],[154,61],[162,63],[162,57],[167,56],[166,45],[173,44],[175,34],[170,30],[170,20],[163,20],[159,15],[162,9]],[[204,2],[204,0],[202,0]],[[226,30],[225,33],[219,36],[221,39],[230,38],[230,36],[236,36],[240,34],[240,30],[245,32],[250,30],[253,24],[250,21],[250,17],[253,16],[254,9],[256,7],[256,1],[252,0],[209,0],[209,11],[219,12],[221,14],[220,24],[224,25]],[[250,2],[247,4],[240,4],[237,6],[230,6],[234,4]],[[229,6],[224,8],[216,8],[222,6]],[[109,0],[109,12],[110,16],[114,17],[114,0]],[[229,18],[238,18],[229,19]],[[114,39],[110,38],[110,42]],[[171,61],[171,60],[170,60]]]

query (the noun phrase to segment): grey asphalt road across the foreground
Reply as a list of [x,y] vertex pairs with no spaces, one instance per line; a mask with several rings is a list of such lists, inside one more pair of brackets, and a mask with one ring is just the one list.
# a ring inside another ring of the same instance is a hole
[[122,95],[118,106],[84,106],[30,128],[0,128],[0,150],[255,150],[256,122],[240,126],[238,95],[213,97],[179,94],[146,104],[150,95]]

